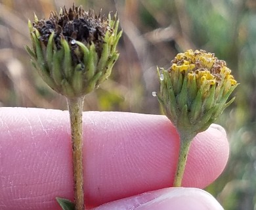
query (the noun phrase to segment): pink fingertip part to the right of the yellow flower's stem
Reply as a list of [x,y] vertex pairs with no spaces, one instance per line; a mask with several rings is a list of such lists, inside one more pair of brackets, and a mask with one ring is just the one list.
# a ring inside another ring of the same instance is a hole
[[192,141],[182,186],[205,188],[221,175],[228,156],[226,131],[220,125],[212,124]]

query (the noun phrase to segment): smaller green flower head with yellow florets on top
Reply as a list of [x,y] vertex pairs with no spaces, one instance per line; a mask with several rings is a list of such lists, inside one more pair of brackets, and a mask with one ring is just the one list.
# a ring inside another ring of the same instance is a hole
[[232,103],[228,96],[238,85],[226,62],[202,50],[177,54],[158,75],[158,100],[180,134],[205,131]]

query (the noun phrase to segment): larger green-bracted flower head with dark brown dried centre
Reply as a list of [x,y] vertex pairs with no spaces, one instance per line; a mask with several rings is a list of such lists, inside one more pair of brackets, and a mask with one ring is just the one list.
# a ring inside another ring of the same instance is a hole
[[56,92],[74,98],[93,91],[111,74],[119,54],[118,20],[75,7],[28,23],[33,66]]

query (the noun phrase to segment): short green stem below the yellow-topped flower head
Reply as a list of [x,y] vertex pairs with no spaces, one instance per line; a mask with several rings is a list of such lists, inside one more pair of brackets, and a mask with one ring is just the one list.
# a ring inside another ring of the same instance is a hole
[[175,178],[173,186],[181,186],[184,169],[186,166],[186,159],[188,158],[188,151],[193,137],[190,135],[180,135],[180,149],[179,149],[179,161],[175,172]]

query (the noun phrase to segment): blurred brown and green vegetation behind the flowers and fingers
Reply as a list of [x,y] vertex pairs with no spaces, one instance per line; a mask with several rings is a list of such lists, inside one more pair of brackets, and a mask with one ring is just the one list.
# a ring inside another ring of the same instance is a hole
[[[42,81],[24,46],[28,19],[49,18],[70,0],[0,0],[0,106],[66,110],[66,100]],[[123,37],[112,75],[85,99],[84,110],[161,114],[156,66],[175,54],[204,49],[226,63],[240,83],[217,123],[230,141],[224,173],[205,190],[226,210],[256,209],[256,1],[83,0],[85,9],[117,11]]]

